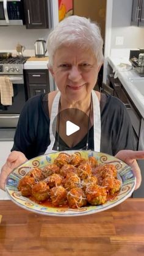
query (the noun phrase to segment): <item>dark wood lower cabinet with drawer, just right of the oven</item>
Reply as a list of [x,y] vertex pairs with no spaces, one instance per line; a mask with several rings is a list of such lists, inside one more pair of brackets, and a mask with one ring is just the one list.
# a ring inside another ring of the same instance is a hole
[[24,78],[28,98],[41,93],[50,92],[48,70],[25,70]]

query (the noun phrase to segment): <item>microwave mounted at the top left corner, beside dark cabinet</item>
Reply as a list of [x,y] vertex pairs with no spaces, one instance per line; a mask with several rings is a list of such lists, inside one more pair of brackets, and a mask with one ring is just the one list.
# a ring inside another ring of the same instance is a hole
[[0,0],[0,26],[23,25],[23,0]]

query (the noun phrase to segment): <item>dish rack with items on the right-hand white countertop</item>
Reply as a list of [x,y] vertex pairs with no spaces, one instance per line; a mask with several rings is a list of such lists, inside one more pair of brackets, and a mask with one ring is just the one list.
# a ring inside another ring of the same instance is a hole
[[140,76],[144,76],[144,49],[130,50],[129,61]]

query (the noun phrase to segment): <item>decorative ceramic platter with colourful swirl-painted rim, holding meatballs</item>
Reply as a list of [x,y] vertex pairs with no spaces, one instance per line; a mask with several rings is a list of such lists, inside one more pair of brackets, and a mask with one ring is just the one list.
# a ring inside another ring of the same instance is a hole
[[118,172],[118,179],[121,180],[121,189],[114,199],[107,201],[103,205],[88,205],[86,207],[72,209],[60,207],[45,207],[43,205],[33,202],[27,197],[21,196],[21,192],[18,191],[17,189],[18,183],[21,180],[21,178],[23,178],[31,168],[43,168],[49,163],[53,163],[54,159],[59,155],[60,152],[38,156],[37,158],[33,158],[29,161],[26,161],[26,163],[21,164],[21,166],[14,169],[13,172],[7,178],[7,182],[5,185],[5,190],[10,199],[14,203],[16,203],[16,205],[19,205],[25,210],[34,211],[35,213],[38,214],[51,216],[81,216],[86,214],[98,213],[99,211],[104,211],[109,208],[115,207],[115,205],[118,205],[119,203],[123,202],[124,200],[131,196],[136,184],[136,178],[134,177],[131,167],[129,167],[123,161],[120,161],[119,159],[107,155],[105,153],[78,150],[67,151],[67,153],[70,155],[73,154],[74,152],[80,152],[81,156],[86,159],[88,158],[88,156],[95,156],[99,164],[115,165]]

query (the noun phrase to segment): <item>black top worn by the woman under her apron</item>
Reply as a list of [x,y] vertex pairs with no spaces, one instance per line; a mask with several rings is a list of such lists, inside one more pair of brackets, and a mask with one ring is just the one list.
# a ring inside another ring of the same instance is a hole
[[[122,149],[135,150],[131,121],[124,104],[118,98],[101,93],[101,147],[100,151],[115,155]],[[13,150],[23,152],[31,159],[43,155],[50,144],[48,94],[30,98],[21,112],[16,128]],[[84,148],[87,135],[73,148],[59,137],[59,150]],[[93,126],[88,135],[88,149],[93,150]],[[54,148],[55,149],[55,148]]]

